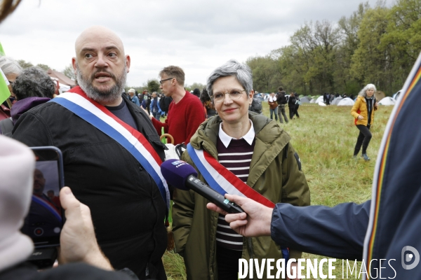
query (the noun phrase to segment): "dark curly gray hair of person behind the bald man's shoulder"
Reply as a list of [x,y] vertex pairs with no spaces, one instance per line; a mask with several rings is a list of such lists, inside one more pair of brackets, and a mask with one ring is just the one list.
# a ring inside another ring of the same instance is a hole
[[20,76],[13,83],[13,93],[16,99],[21,100],[27,97],[48,97],[53,99],[55,83],[43,69],[32,66],[23,69]]

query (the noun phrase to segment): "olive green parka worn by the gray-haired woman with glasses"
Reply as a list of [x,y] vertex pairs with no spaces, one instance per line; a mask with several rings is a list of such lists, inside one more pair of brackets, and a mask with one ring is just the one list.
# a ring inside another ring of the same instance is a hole
[[[295,150],[289,144],[289,135],[265,116],[249,113],[248,117],[253,122],[256,140],[247,185],[274,203],[309,205],[309,187],[299,168],[298,155],[295,158]],[[218,159],[216,141],[221,122],[219,116],[206,120],[190,144]],[[187,151],[182,154],[182,160],[196,168]],[[204,181],[200,173],[198,178]],[[187,279],[218,279],[215,248],[219,214],[206,209],[208,200],[192,190],[175,189],[173,200],[175,248],[185,260]],[[290,258],[300,257],[301,252],[290,251]],[[282,258],[282,253],[271,237],[244,237],[242,258],[277,260]]]

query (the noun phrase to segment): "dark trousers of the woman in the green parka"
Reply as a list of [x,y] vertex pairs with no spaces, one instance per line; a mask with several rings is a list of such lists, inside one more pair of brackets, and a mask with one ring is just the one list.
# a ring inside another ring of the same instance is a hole
[[239,259],[241,251],[230,250],[221,246],[216,246],[216,262],[218,265],[219,280],[239,279]]

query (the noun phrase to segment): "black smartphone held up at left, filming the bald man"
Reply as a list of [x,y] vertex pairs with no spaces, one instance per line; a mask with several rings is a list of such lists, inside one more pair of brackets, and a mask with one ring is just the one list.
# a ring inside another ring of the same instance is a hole
[[36,164],[29,214],[21,232],[31,237],[35,248],[60,246],[60,232],[65,223],[60,204],[60,190],[65,184],[60,149],[53,146],[32,147]]

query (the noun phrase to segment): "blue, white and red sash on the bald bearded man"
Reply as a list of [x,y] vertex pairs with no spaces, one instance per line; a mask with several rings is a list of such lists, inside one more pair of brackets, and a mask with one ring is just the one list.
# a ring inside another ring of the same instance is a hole
[[140,162],[140,165],[145,168],[147,173],[152,176],[156,186],[159,188],[163,201],[166,203],[167,208],[169,207],[170,193],[160,168],[162,160],[143,134],[114,116],[105,106],[87,97],[86,93],[79,86],[72,88],[69,92],[60,94],[58,97],[51,99],[50,102],[60,104],[67,110],[72,111],[83,120],[86,120],[87,123],[90,123],[117,141],[123,148],[126,148]]

